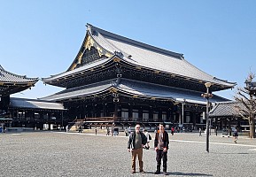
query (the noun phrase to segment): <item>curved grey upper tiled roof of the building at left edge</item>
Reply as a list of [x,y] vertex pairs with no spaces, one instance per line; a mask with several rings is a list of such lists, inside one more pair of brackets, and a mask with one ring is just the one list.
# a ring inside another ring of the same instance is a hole
[[17,75],[15,73],[10,73],[4,70],[0,65],[0,82],[3,83],[27,83],[27,82],[36,82],[38,78],[27,78],[26,75]]

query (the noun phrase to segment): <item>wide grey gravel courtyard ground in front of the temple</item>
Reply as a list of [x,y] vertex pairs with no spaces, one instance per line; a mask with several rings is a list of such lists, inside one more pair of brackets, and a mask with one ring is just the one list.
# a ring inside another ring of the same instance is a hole
[[[131,174],[128,138],[64,132],[0,134],[0,176],[158,176],[155,151],[144,150],[146,173]],[[152,135],[152,134],[151,134]],[[256,176],[256,140],[170,136],[170,176]],[[152,142],[151,142],[152,147]],[[160,176],[162,176],[160,174]]]

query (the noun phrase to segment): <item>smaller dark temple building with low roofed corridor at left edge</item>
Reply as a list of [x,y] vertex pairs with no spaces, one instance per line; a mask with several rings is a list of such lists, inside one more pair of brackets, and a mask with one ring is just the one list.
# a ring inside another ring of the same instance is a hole
[[63,113],[66,109],[62,104],[10,97],[34,87],[37,81],[38,78],[10,73],[0,65],[0,126],[10,130],[19,127],[53,129],[53,125],[63,126]]

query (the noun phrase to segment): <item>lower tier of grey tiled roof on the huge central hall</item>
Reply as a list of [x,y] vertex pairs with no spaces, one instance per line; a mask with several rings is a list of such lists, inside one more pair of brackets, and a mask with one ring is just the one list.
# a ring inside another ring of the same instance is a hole
[[[118,93],[124,93],[131,96],[141,96],[147,98],[159,98],[159,99],[171,99],[174,101],[183,101],[195,103],[195,104],[206,104],[206,99],[201,96],[200,92],[191,91],[186,89],[175,89],[156,84],[131,81],[127,79],[121,79],[117,85],[113,84],[113,81],[104,81],[97,84],[90,84],[75,89],[66,89],[58,92],[52,96],[43,97],[44,100],[61,101],[70,98],[77,98],[82,96],[91,96],[103,93],[110,88],[118,89]],[[227,101],[227,99],[220,96],[213,96],[211,102]]]

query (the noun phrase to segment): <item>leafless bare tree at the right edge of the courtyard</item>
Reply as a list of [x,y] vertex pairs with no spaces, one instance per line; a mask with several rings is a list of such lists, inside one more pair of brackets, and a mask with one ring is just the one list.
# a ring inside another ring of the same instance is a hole
[[256,82],[252,82],[254,78],[255,74],[250,72],[245,80],[246,87],[237,88],[237,96],[234,96],[235,100],[241,104],[237,108],[237,113],[249,121],[250,138],[255,138]]

